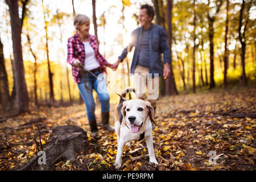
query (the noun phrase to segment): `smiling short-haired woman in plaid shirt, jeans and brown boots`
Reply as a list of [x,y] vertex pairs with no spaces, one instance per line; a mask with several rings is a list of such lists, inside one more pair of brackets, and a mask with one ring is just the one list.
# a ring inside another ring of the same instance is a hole
[[109,125],[110,97],[104,77],[102,77],[105,67],[113,68],[113,66],[98,51],[96,37],[89,34],[89,17],[82,14],[76,15],[74,26],[76,27],[76,33],[68,39],[67,62],[72,65],[73,78],[85,102],[92,137],[96,137],[98,133],[94,114],[95,102],[93,99],[93,89],[97,92],[101,102],[103,129],[114,132],[114,128]]

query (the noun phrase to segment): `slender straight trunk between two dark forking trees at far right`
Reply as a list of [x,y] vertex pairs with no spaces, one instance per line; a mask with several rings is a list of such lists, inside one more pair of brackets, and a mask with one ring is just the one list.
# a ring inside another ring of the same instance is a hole
[[224,52],[224,80],[223,87],[228,86],[226,75],[228,73],[229,66],[229,0],[226,1],[226,30],[225,30],[225,52]]

